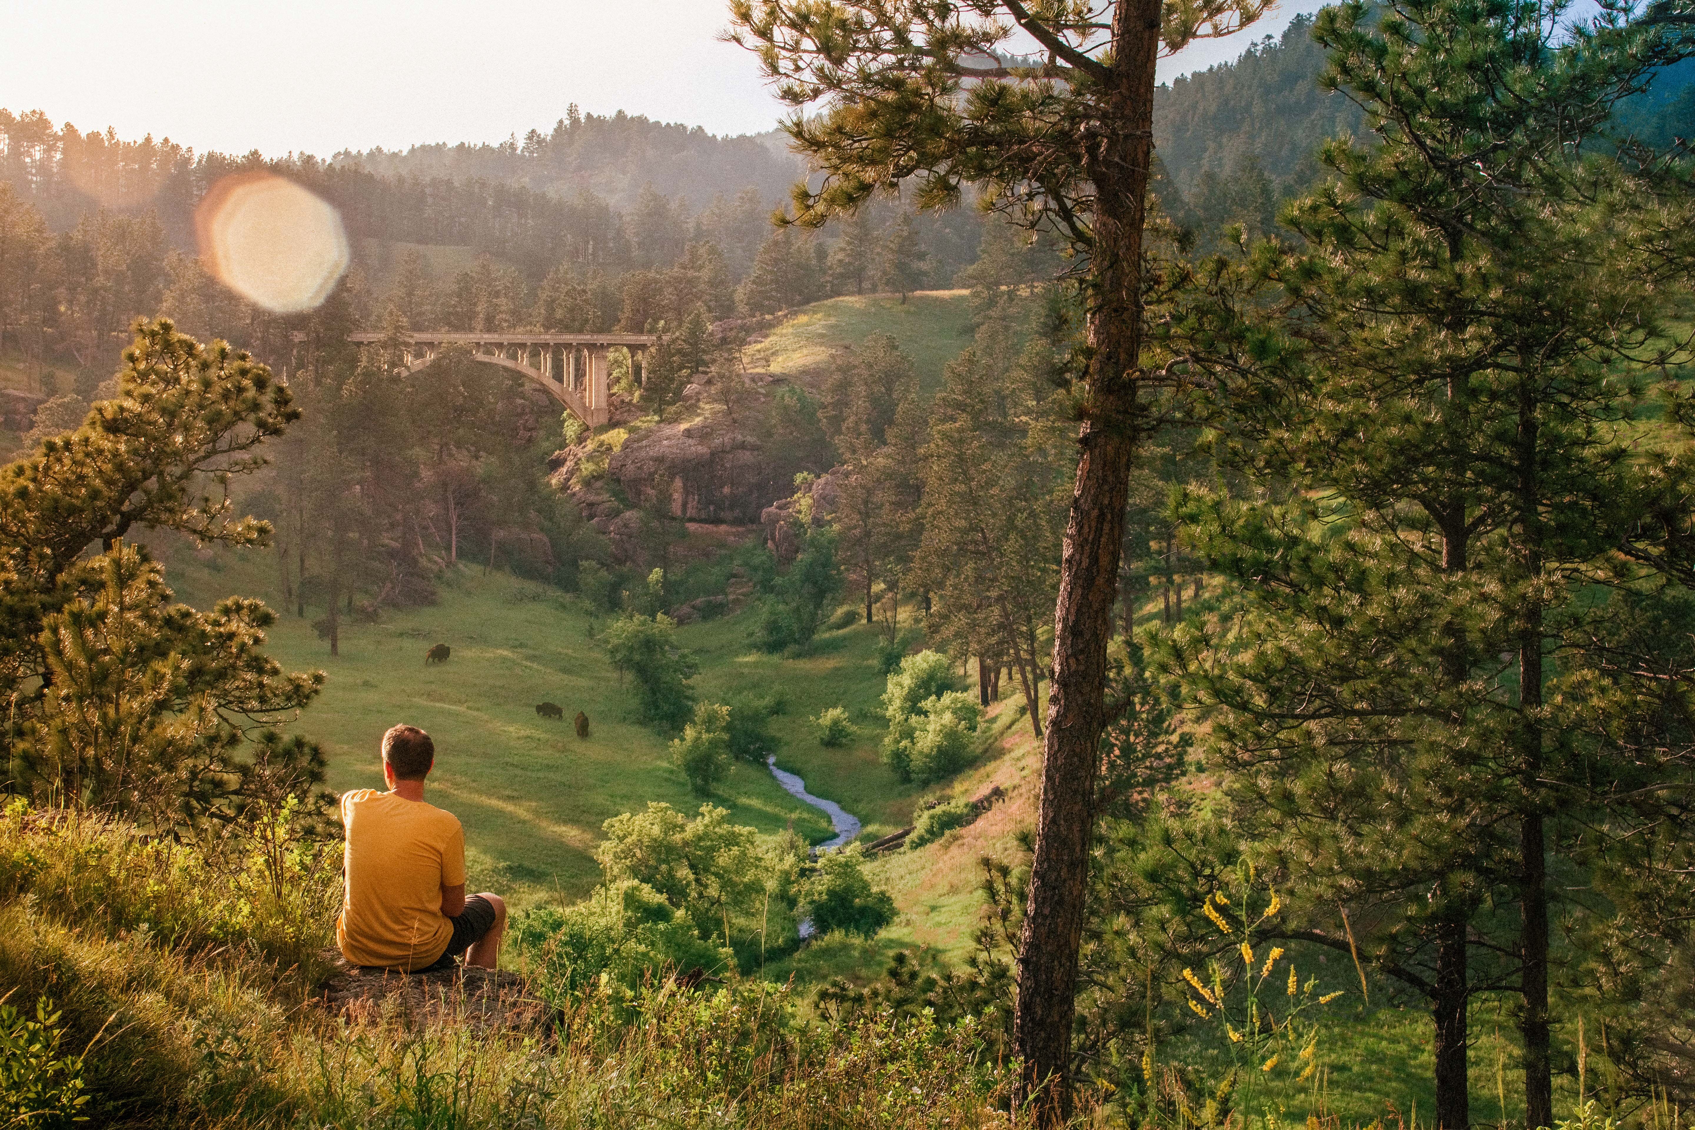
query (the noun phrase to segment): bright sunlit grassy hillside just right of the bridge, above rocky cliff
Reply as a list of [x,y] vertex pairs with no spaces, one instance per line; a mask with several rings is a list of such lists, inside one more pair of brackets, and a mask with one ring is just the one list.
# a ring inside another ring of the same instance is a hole
[[909,295],[851,295],[817,302],[747,347],[751,368],[800,374],[831,361],[837,349],[871,334],[892,334],[912,357],[925,390],[942,379],[942,366],[971,344],[971,300],[963,290]]

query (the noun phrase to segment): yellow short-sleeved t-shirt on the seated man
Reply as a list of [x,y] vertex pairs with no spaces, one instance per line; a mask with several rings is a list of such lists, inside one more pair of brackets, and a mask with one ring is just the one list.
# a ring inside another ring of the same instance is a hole
[[464,828],[449,813],[376,789],[341,795],[347,832],[336,944],[356,966],[422,969],[447,950],[441,889],[464,883]]

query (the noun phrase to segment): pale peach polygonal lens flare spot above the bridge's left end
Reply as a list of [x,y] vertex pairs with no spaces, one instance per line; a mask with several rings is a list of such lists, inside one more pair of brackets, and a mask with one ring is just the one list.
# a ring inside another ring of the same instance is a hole
[[275,173],[234,173],[195,210],[200,259],[275,313],[322,303],[347,269],[347,232],[327,200]]

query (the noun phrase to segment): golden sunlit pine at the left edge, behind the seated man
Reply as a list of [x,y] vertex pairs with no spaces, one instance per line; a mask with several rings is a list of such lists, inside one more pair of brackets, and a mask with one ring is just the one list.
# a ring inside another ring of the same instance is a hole
[[[310,701],[322,674],[283,674],[263,654],[271,613],[258,601],[171,605],[158,566],[122,539],[170,529],[263,546],[270,527],[239,517],[227,485],[258,471],[259,446],[297,418],[290,390],[247,354],[147,322],[124,351],[117,398],[3,469],[0,737],[12,788],[164,832],[227,811],[244,739]],[[85,557],[90,544],[103,552]]]

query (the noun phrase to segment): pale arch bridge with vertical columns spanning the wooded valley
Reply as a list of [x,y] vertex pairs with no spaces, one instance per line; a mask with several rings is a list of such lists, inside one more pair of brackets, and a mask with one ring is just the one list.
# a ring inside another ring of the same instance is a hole
[[[383,334],[349,334],[347,341],[370,346]],[[590,427],[600,427],[609,415],[609,352],[622,346],[631,361],[642,364],[659,339],[654,334],[427,334],[405,335],[407,368],[427,368],[446,346],[468,346],[471,357],[498,364],[546,388]]]

